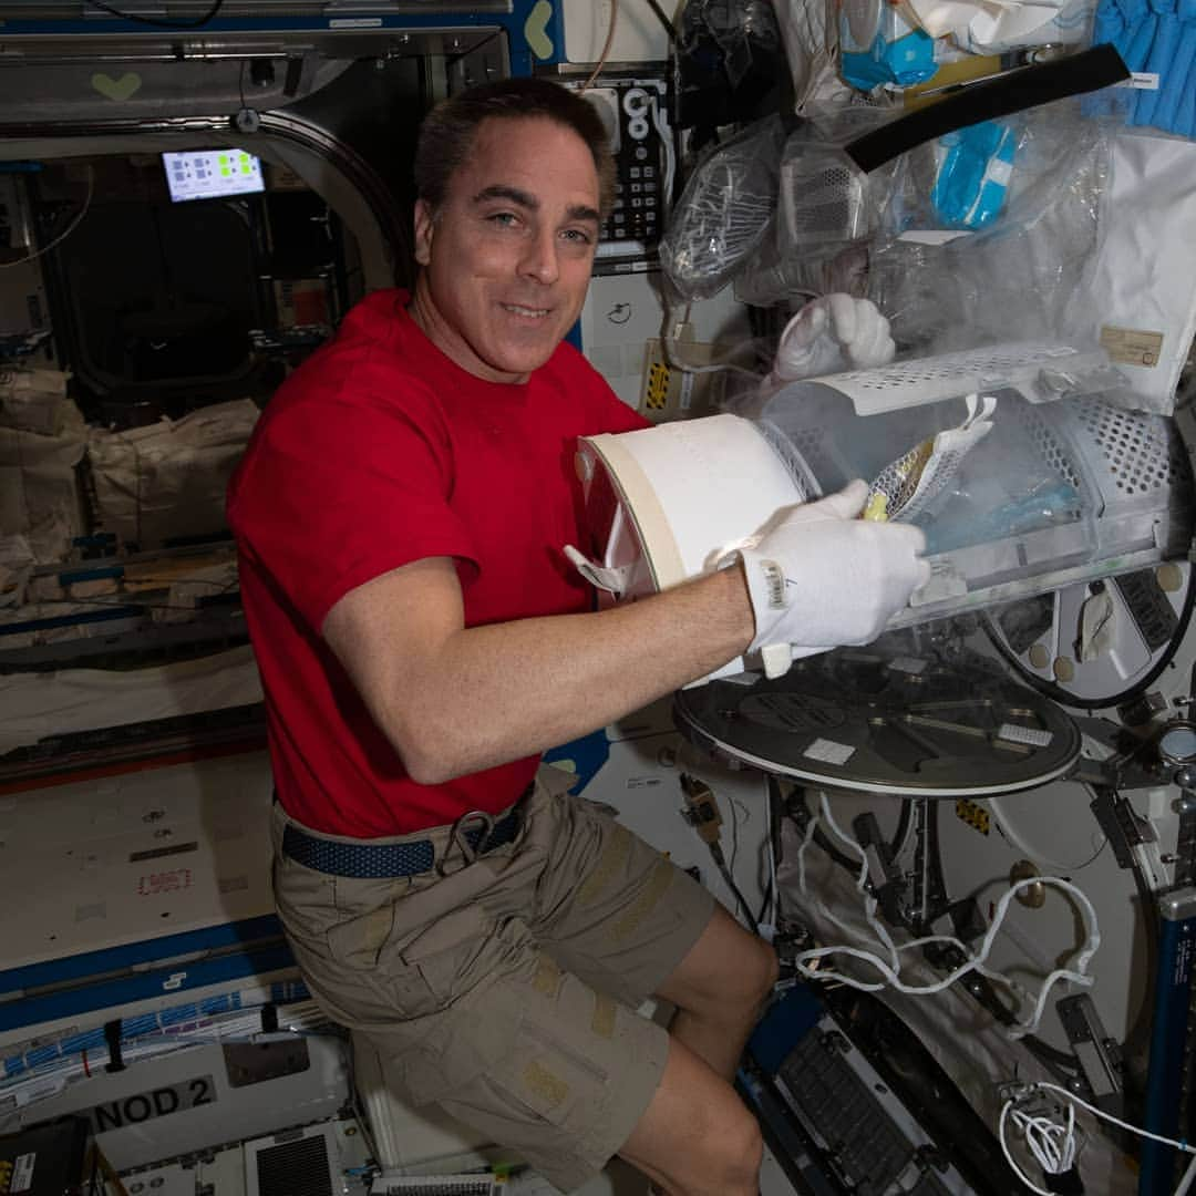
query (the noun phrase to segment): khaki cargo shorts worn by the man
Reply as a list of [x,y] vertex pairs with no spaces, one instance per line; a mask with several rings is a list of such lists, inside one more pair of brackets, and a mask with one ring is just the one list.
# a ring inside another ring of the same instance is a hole
[[[386,1084],[434,1103],[572,1191],[618,1152],[652,1097],[667,1032],[635,1011],[697,941],[714,899],[542,768],[512,842],[472,853],[437,828],[438,867],[347,878],[281,850],[274,887],[324,1012],[365,1036]],[[332,843],[354,843],[319,836]],[[441,874],[441,871],[444,874]]]

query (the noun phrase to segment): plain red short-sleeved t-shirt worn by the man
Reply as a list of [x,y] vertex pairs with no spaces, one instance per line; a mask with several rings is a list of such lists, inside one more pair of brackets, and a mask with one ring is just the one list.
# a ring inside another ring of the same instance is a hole
[[646,425],[574,348],[521,385],[454,365],[380,291],[279,389],[228,488],[275,785],[301,823],[370,838],[511,805],[537,758],[419,785],[324,642],[350,590],[456,559],[465,626],[587,610],[580,435]]

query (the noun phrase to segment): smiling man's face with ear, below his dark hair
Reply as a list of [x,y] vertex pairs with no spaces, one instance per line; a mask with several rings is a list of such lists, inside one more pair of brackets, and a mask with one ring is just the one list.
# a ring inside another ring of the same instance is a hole
[[598,242],[598,171],[548,117],[483,121],[440,209],[415,208],[411,313],[463,370],[524,382],[581,311]]

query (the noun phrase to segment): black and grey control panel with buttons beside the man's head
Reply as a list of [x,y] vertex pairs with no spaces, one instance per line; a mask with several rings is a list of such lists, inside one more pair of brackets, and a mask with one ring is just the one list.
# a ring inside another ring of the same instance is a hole
[[665,93],[664,79],[600,79],[584,93],[606,126],[616,164],[596,269],[610,258],[645,258],[660,240],[673,161]]

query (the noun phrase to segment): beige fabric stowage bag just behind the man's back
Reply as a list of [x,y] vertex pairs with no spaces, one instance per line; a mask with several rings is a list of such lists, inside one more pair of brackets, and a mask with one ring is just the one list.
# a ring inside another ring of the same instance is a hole
[[102,530],[140,548],[219,533],[225,489],[257,416],[242,398],[144,428],[93,429],[87,456]]

